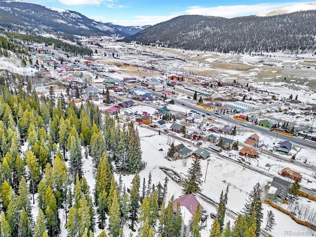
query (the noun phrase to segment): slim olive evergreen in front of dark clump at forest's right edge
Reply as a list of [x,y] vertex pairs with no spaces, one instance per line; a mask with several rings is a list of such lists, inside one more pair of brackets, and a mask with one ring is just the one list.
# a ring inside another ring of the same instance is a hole
[[137,212],[139,208],[139,188],[140,180],[139,175],[136,172],[132,180],[132,188],[129,192],[130,194],[130,219],[131,219],[131,229],[134,230],[135,221],[137,221]]

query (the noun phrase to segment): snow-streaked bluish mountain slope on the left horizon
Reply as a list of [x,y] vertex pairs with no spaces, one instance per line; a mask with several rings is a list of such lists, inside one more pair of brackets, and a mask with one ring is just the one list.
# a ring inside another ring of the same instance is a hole
[[70,34],[78,36],[130,36],[141,29],[112,27],[87,18],[76,11],[41,6],[19,0],[0,0],[0,28],[31,34]]

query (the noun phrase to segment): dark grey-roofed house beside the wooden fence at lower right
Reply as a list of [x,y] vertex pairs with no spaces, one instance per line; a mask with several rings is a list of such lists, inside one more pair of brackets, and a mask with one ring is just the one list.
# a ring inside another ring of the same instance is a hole
[[274,177],[268,190],[269,199],[283,202],[290,191],[290,187],[291,182]]

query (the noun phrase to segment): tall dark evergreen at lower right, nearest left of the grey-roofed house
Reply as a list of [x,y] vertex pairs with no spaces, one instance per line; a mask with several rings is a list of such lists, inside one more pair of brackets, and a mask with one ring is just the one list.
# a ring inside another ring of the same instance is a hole
[[242,210],[242,213],[246,220],[248,221],[251,212],[254,210],[255,212],[255,219],[256,219],[256,231],[255,235],[257,236],[260,232],[261,222],[263,218],[262,214],[262,189],[259,183],[257,183],[253,190],[248,195],[248,200],[245,203],[245,206]]

